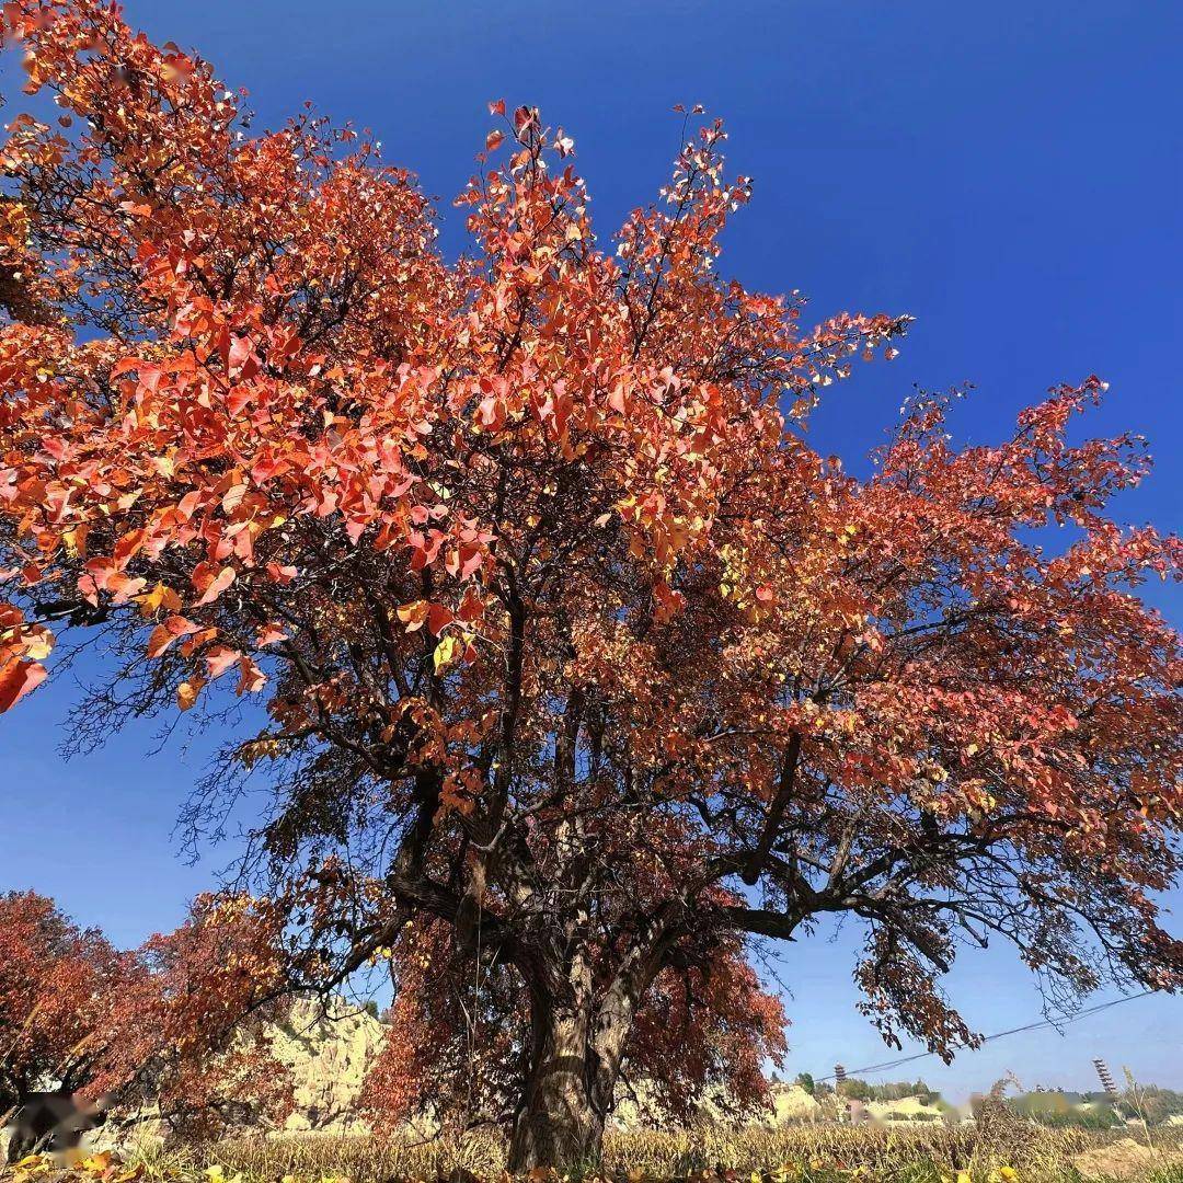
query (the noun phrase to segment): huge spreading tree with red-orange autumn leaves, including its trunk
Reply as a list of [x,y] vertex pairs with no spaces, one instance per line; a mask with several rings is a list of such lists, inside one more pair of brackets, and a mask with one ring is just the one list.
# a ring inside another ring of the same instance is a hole
[[71,745],[227,725],[187,821],[270,788],[295,983],[412,923],[509,975],[515,1166],[595,1151],[655,983],[828,913],[944,1054],[962,942],[1183,982],[1179,645],[1132,594],[1179,544],[1106,516],[1146,458],[1071,441],[1097,379],[993,447],[919,397],[854,479],[801,425],[907,318],[717,276],[719,124],[609,248],[569,137],[492,104],[450,264],[351,128],[254,135],[97,0],[4,11],[62,127],[2,157],[0,707],[97,635]]

